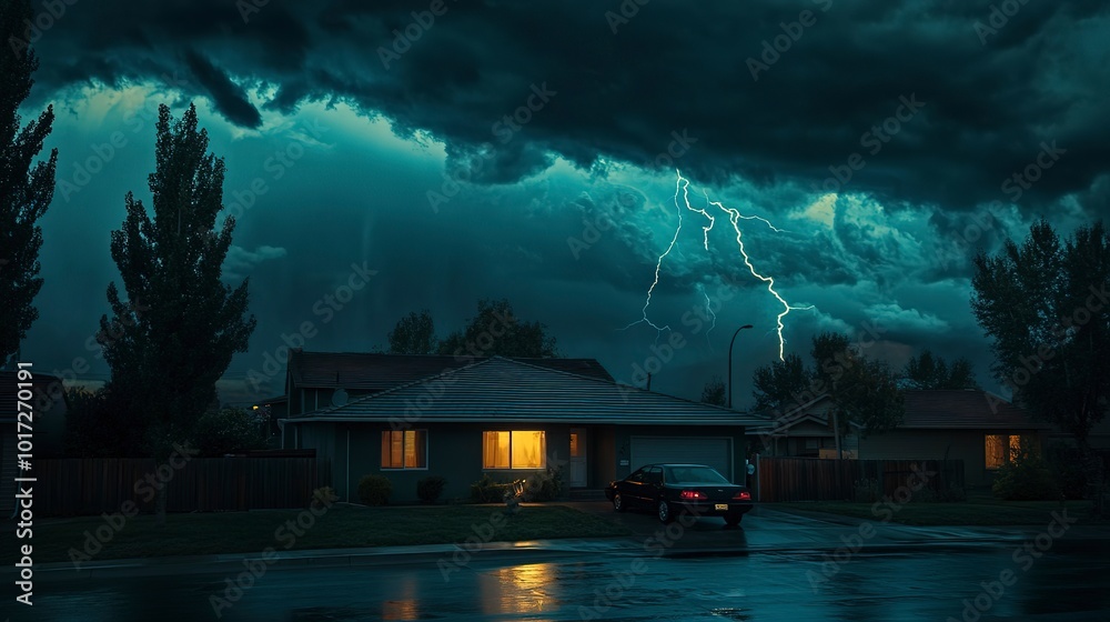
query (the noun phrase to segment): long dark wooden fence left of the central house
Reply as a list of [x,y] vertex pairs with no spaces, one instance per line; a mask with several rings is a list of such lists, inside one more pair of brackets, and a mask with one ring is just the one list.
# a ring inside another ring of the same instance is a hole
[[[176,468],[175,468],[176,466]],[[331,463],[314,458],[64,459],[34,462],[34,514],[119,512],[132,501],[153,512],[167,482],[167,511],[215,512],[306,508],[312,491],[332,485]]]

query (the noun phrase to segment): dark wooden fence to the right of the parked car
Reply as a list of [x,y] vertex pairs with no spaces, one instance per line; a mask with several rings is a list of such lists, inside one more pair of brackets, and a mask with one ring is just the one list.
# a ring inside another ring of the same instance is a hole
[[[912,475],[917,474],[916,478]],[[962,460],[827,460],[763,458],[758,460],[758,500],[871,501],[895,498],[899,486],[917,485],[942,496],[963,489]],[[916,492],[915,492],[916,494]],[[901,493],[905,495],[905,492]]]

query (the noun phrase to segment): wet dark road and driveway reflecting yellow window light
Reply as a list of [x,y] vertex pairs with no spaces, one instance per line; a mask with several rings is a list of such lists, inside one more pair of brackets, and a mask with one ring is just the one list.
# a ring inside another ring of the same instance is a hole
[[[776,518],[749,516],[735,531],[705,520],[683,533],[674,529],[669,540],[649,516],[629,514],[623,519],[636,528],[629,542],[639,546],[623,550],[483,552],[470,561],[441,553],[342,566],[279,562],[241,593],[226,590],[229,570],[57,574],[36,586],[32,611],[6,603],[3,615],[12,622],[1110,620],[1106,540],[1066,536],[1037,551],[1039,558],[1020,540],[901,548],[877,536],[856,552],[745,545],[785,532],[786,521]],[[815,525],[826,542],[858,533]],[[705,554],[715,542],[728,553]]]

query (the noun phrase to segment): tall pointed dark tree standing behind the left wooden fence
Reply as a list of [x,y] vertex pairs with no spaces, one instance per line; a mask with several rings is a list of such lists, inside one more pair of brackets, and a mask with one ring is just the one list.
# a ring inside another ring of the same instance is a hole
[[[248,281],[235,289],[221,281],[235,228],[228,217],[215,230],[223,159],[206,152],[208,132],[196,130],[193,106],[172,124],[170,109],[159,107],[157,130],[153,218],[128,192],[128,215],[111,242],[128,300],[109,284],[113,317],[101,318],[97,339],[112,372],[108,390],[127,398],[162,463],[192,437],[216,398],[216,380],[235,352],[246,351],[255,320],[244,319]],[[158,511],[163,523],[164,486]]]

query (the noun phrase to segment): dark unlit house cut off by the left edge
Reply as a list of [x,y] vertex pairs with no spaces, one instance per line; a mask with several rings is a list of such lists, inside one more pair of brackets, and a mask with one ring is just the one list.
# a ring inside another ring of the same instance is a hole
[[[19,402],[20,380],[18,372],[0,371],[0,518],[12,515],[16,510],[16,478],[33,478],[34,461],[54,458],[62,451],[62,435],[65,432],[65,399],[62,381],[30,369],[33,374],[30,405],[32,418],[20,417],[24,409]],[[20,427],[23,423],[24,427]],[[30,431],[27,427],[30,427]],[[31,451],[20,451],[19,434],[31,434]],[[18,454],[31,454],[31,471],[20,472]]]

